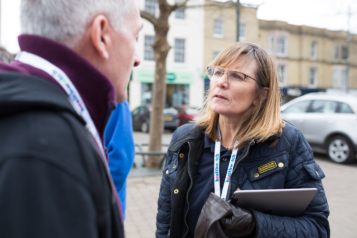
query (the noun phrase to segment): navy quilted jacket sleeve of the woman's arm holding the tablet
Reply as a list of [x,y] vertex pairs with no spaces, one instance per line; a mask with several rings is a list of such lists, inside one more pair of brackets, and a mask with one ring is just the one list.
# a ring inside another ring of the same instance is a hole
[[321,179],[325,177],[315,162],[311,147],[300,131],[295,132],[285,188],[317,188],[318,192],[300,217],[280,217],[254,211],[256,237],[330,237],[330,213]]

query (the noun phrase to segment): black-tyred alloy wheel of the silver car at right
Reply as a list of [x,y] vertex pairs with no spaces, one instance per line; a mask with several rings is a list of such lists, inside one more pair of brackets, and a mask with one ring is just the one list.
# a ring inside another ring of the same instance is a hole
[[353,146],[343,136],[332,137],[327,143],[327,151],[329,158],[336,163],[348,164],[355,159]]

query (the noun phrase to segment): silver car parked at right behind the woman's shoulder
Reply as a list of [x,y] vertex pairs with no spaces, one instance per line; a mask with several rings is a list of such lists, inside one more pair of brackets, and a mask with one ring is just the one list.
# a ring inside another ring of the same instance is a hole
[[310,93],[281,106],[282,118],[304,134],[315,152],[351,163],[357,151],[357,96]]

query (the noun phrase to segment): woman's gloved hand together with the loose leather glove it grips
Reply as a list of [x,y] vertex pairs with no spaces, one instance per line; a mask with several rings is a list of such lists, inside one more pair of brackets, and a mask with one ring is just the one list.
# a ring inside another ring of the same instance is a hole
[[211,193],[198,218],[195,238],[246,237],[254,232],[255,220],[251,211]]

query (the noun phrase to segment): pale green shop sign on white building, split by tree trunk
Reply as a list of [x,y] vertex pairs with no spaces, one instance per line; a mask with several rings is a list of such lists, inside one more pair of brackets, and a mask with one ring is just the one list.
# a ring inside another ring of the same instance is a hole
[[[142,83],[154,83],[155,70],[138,69],[135,71],[136,80]],[[194,81],[193,72],[171,71],[166,73],[167,84],[191,84]]]

